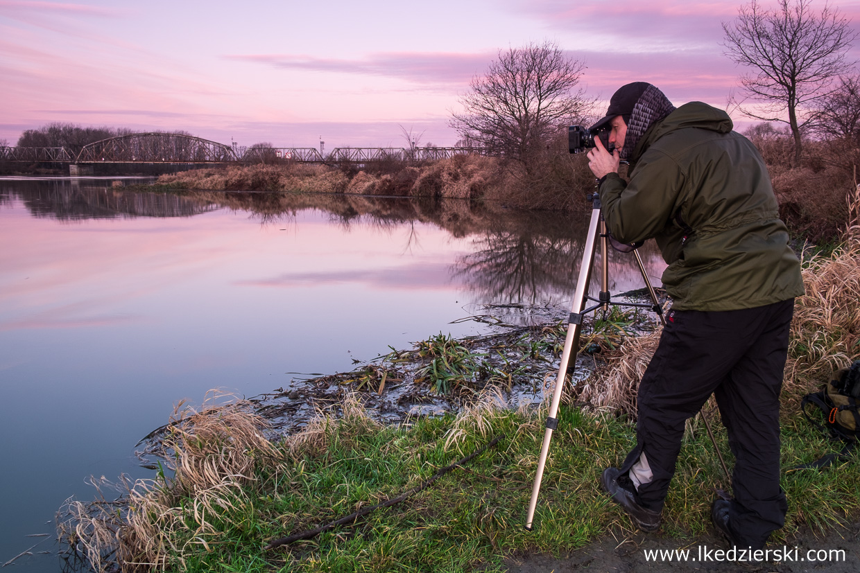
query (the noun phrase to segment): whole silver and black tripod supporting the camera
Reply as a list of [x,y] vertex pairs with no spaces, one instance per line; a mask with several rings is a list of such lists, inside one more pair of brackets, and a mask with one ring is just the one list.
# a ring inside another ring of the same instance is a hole
[[[611,295],[609,293],[609,234],[606,231],[606,222],[604,221],[603,215],[600,211],[600,197],[598,193],[594,193],[589,200],[592,202],[593,209],[591,220],[588,223],[588,233],[586,235],[586,247],[585,251],[582,253],[582,265],[580,266],[580,277],[576,283],[576,291],[574,293],[574,302],[570,311],[570,318],[568,320],[568,334],[564,339],[564,350],[562,351],[562,362],[558,368],[558,375],[556,377],[556,387],[552,394],[552,402],[550,403],[550,413],[548,418],[546,419],[546,431],[544,433],[544,443],[541,446],[540,458],[537,460],[537,475],[535,476],[535,482],[531,489],[531,502],[529,503],[529,513],[526,517],[525,528],[531,531],[531,522],[534,520],[535,508],[537,507],[537,495],[540,492],[540,483],[544,478],[544,466],[546,465],[546,457],[550,451],[550,440],[552,439],[552,432],[556,430],[558,427],[558,418],[556,415],[558,413],[558,405],[562,399],[562,390],[564,389],[564,380],[565,376],[568,374],[573,374],[574,369],[576,368],[576,350],[579,348],[580,344],[580,332],[582,330],[582,317],[585,314],[590,313],[594,310],[603,309],[609,310],[611,302]],[[598,241],[600,242],[600,254],[601,254],[601,288],[599,299],[594,299],[591,296],[588,296],[588,284],[591,282],[591,274],[594,265],[594,252],[597,247]],[[654,287],[651,286],[651,282],[648,280],[648,273],[645,271],[645,265],[642,264],[642,257],[639,256],[639,253],[636,252],[635,247],[631,247],[633,252],[633,256],[636,258],[636,264],[639,266],[639,271],[642,272],[642,279],[645,281],[645,286],[648,288],[648,296],[651,297],[651,304],[641,303],[641,302],[622,302],[616,303],[618,306],[628,306],[628,307],[642,307],[642,308],[651,308],[654,310],[654,313],[657,314],[660,319],[660,323],[662,326],[666,326],[666,317],[663,316],[663,308],[660,306],[660,302],[657,300],[657,293],[654,291]],[[592,307],[586,308],[586,303],[588,301],[596,302]],[[574,354],[574,359],[571,362],[571,353]],[[568,363],[570,365],[568,366]],[[708,418],[704,417],[704,413],[700,412],[702,416],[702,420],[704,422],[705,428],[708,430],[708,436],[710,436],[711,442],[714,443],[714,449],[716,450],[716,454],[720,458],[720,463],[722,464],[722,469],[726,472],[726,477],[731,481],[731,477],[728,473],[728,468],[726,467],[726,462],[722,460],[722,454],[720,453],[720,449],[716,446],[716,440],[714,439],[714,434],[710,430],[710,424],[708,423]]]

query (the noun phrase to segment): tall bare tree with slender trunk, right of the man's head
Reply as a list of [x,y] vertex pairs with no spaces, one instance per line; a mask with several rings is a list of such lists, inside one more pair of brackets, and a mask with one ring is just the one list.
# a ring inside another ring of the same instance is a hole
[[777,9],[768,10],[752,0],[740,7],[733,22],[722,23],[726,55],[753,69],[740,80],[746,95],[763,104],[741,111],[754,119],[787,123],[795,162],[802,153],[802,129],[814,119],[811,105],[851,68],[845,52],[856,38],[838,10],[825,3],[814,12],[810,3],[779,0]]

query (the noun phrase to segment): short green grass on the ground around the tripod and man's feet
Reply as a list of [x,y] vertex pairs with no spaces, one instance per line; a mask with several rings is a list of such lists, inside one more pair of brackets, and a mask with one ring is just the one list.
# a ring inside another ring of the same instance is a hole
[[[731,463],[722,426],[717,440]],[[534,530],[522,527],[543,419],[493,411],[481,432],[471,431],[445,448],[451,416],[420,419],[409,427],[335,424],[328,447],[314,456],[261,472],[254,485],[225,500],[221,515],[194,520],[187,511],[188,571],[465,571],[501,570],[513,552],[563,553],[587,545],[611,528],[630,530],[629,519],[599,491],[599,473],[617,465],[634,441],[622,418],[593,417],[562,408],[553,435]],[[353,511],[396,497],[440,467],[470,454],[493,436],[507,436],[462,469],[391,508],[363,521],[322,533],[271,552],[273,538],[335,521]],[[783,467],[812,461],[832,451],[798,416],[783,423]],[[857,456],[824,471],[783,473],[789,497],[781,543],[800,525],[826,529],[857,515],[860,491]],[[703,427],[685,439],[678,472],[667,498],[662,534],[690,539],[710,531],[714,487],[725,477]],[[194,499],[184,501],[187,508]],[[200,529],[201,522],[208,525]]]

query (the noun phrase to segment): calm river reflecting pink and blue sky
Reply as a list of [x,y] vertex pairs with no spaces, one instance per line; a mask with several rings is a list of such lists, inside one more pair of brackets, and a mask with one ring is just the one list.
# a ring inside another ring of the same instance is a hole
[[[458,201],[124,192],[0,178],[0,565],[59,571],[54,515],[181,399],[332,374],[490,303],[569,307],[587,220]],[[127,183],[128,181],[126,181]],[[651,248],[652,250],[648,250]],[[643,247],[659,285],[663,263]],[[613,253],[613,293],[642,287]],[[46,537],[39,537],[47,534]],[[22,555],[30,552],[32,555]]]

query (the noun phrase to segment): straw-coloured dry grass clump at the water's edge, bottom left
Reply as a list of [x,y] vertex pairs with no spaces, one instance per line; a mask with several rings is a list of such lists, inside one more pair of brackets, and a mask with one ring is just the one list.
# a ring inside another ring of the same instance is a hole
[[291,460],[324,454],[335,435],[339,448],[349,448],[381,428],[347,394],[338,420],[318,412],[304,431],[275,444],[263,435],[267,420],[248,401],[214,405],[215,399],[223,402],[212,395],[200,411],[176,407],[156,452],[163,464],[156,479],[123,483],[125,495],[116,502],[92,480],[98,500],[66,503],[60,537],[93,570],[183,570],[186,558],[209,552],[255,518],[255,503],[267,495],[259,476],[277,482],[291,472]]

